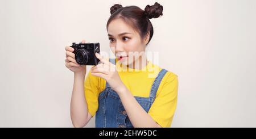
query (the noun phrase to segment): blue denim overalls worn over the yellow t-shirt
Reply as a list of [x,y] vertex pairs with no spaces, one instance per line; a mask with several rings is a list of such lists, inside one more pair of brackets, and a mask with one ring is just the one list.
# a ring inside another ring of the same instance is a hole
[[[110,58],[109,61],[115,64],[115,59]],[[148,112],[154,102],[156,91],[158,91],[160,82],[166,72],[167,70],[162,69],[158,73],[158,76],[151,86],[149,98],[134,96],[146,112]],[[106,127],[133,128],[117,92],[111,89],[108,82],[106,82],[105,90],[98,96],[98,110],[96,112],[96,128]]]

